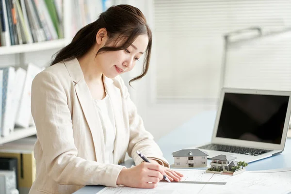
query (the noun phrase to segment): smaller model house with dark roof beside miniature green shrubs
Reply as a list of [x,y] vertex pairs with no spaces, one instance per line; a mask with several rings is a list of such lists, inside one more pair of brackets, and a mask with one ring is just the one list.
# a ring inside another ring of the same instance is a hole
[[218,155],[210,158],[210,166],[211,168],[219,169],[221,171],[231,171],[231,167],[237,166],[238,162],[235,162],[235,159],[237,158],[227,155]]

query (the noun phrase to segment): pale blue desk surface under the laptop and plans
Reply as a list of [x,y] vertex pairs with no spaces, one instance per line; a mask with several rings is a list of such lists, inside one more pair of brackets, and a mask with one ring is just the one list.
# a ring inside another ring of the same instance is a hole
[[[169,163],[174,163],[172,156],[174,151],[210,142],[215,115],[215,111],[197,114],[191,120],[157,141],[162,149],[164,157],[169,161]],[[201,134],[203,134],[203,136]],[[210,162],[210,160],[208,162]],[[132,160],[125,162],[125,166],[130,167],[131,164]],[[291,167],[291,139],[287,139],[285,150],[281,154],[260,161],[251,162],[246,169],[269,170],[287,167]],[[96,194],[103,188],[104,186],[86,186],[74,194]]]

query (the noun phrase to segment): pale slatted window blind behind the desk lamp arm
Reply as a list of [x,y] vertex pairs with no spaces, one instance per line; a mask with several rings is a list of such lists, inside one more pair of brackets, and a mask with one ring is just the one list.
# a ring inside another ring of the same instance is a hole
[[226,52],[224,41],[240,29],[291,26],[290,0],[154,0],[154,9],[157,99],[217,98],[225,53],[224,86],[291,90],[288,38]]

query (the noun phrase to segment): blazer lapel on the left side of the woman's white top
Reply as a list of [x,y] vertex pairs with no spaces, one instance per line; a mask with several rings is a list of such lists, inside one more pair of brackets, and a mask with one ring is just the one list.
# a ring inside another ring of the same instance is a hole
[[81,66],[77,59],[65,62],[65,65],[73,81],[76,82],[76,94],[92,134],[96,159],[98,162],[104,163],[105,146],[101,121],[98,114],[96,113],[90,90],[87,86],[86,81],[84,80]]

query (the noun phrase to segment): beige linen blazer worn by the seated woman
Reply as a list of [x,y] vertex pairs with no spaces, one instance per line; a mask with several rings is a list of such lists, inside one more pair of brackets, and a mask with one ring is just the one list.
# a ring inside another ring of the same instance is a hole
[[115,187],[126,152],[136,164],[142,162],[135,153],[139,150],[168,165],[121,77],[104,77],[104,84],[115,118],[113,164],[104,163],[103,130],[78,60],[52,65],[34,78],[36,179],[30,194],[71,194],[84,185]]

